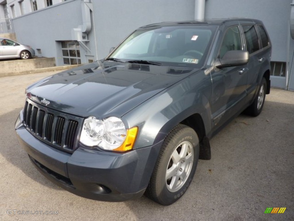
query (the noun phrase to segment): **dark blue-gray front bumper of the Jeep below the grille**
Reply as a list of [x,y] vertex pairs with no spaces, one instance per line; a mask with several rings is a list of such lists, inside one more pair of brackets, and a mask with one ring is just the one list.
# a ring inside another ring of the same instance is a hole
[[141,197],[161,146],[160,142],[126,153],[78,148],[69,154],[35,138],[20,117],[15,129],[20,145],[46,178],[76,195],[102,201]]

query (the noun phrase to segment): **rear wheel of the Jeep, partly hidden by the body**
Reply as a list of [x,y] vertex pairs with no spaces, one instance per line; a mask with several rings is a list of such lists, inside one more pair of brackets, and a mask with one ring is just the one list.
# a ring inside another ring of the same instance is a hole
[[248,113],[251,116],[258,116],[261,113],[261,110],[263,108],[263,104],[265,101],[265,94],[266,94],[266,80],[263,77],[259,88],[257,95],[253,101],[253,103],[246,109],[245,113]]

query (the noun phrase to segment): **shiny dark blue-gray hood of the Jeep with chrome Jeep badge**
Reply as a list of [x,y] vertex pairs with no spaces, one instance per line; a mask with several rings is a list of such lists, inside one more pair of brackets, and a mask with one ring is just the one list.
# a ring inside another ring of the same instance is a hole
[[47,103],[47,108],[65,113],[82,117],[121,117],[196,71],[99,61],[44,78],[29,86],[26,93],[36,103]]

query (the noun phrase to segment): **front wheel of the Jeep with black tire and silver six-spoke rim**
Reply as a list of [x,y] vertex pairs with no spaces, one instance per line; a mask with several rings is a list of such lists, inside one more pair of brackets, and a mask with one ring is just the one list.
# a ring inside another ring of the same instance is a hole
[[[147,197],[162,205],[176,202],[188,189],[195,174],[198,158],[197,133],[186,125],[179,124],[173,128],[163,141],[145,192]],[[168,171],[170,178],[167,178]]]

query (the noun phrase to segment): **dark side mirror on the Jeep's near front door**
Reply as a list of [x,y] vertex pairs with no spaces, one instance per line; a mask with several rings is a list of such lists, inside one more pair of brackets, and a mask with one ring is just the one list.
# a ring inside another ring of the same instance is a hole
[[216,67],[234,67],[240,65],[246,65],[249,61],[249,52],[234,50],[228,51],[225,55],[216,62]]

